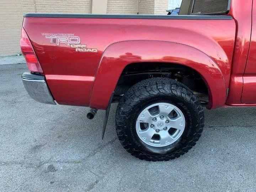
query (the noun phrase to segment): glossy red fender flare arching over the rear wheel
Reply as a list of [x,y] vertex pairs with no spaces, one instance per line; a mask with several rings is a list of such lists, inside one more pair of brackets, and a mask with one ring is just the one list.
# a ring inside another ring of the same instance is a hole
[[123,69],[131,63],[145,62],[175,63],[196,70],[208,86],[208,108],[225,104],[222,71],[201,50],[175,42],[134,40],[113,43],[103,52],[91,91],[90,107],[105,110]]

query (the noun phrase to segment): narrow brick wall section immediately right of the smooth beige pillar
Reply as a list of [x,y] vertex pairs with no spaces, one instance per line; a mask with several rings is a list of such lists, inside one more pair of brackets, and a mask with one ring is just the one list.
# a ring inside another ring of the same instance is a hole
[[108,0],[107,14],[137,14],[138,0]]

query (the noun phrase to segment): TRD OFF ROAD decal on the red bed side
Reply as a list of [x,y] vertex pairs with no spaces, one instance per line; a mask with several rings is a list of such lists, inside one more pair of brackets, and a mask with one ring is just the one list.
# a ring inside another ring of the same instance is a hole
[[42,33],[42,36],[49,39],[50,43],[54,43],[60,46],[62,43],[74,48],[77,52],[98,52],[98,49],[87,48],[86,44],[81,44],[79,36],[75,36],[74,33]]

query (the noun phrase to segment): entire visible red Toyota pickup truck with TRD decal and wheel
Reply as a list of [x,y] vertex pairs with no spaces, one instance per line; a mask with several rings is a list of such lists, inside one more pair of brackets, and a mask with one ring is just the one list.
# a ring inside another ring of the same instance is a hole
[[183,0],[183,15],[25,14],[23,84],[36,101],[89,106],[90,119],[106,110],[102,135],[119,102],[129,153],[177,158],[201,136],[203,106],[256,106],[256,1],[207,13],[214,1]]

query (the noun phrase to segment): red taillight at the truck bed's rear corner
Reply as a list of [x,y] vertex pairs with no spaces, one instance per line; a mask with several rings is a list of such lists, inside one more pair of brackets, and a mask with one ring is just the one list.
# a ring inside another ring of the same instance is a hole
[[27,36],[26,31],[22,27],[21,31],[21,52],[25,57],[27,62],[28,69],[32,72],[43,73],[43,70],[37,60],[36,54],[34,53],[33,47],[30,43],[30,40]]

